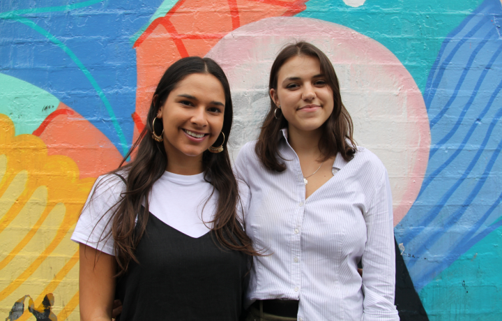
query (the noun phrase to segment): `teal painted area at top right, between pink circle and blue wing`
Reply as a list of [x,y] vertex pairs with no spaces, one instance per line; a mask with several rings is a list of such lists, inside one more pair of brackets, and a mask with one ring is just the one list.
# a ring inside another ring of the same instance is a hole
[[342,24],[377,40],[408,69],[424,92],[444,38],[482,0],[367,0],[352,8],[342,0],[310,0],[298,17]]

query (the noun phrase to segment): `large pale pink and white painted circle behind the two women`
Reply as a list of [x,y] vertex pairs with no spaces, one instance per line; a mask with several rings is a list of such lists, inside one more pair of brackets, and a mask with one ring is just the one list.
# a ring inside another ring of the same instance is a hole
[[321,49],[335,67],[342,101],[358,145],[377,154],[388,170],[394,225],[416,200],[429,158],[427,111],[413,77],[381,43],[339,24],[303,17],[272,17],[222,38],[206,57],[229,79],[234,103],[230,137],[234,158],[259,134],[270,110],[268,73],[278,52],[295,40]]

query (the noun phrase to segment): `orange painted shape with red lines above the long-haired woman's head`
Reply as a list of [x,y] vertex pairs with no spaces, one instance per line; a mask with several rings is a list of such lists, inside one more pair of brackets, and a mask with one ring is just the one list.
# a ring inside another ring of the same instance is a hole
[[[136,114],[146,119],[155,87],[174,61],[204,57],[227,33],[266,17],[291,16],[305,10],[305,0],[180,0],[165,17],[154,20],[139,36]],[[134,130],[137,140],[138,130]]]

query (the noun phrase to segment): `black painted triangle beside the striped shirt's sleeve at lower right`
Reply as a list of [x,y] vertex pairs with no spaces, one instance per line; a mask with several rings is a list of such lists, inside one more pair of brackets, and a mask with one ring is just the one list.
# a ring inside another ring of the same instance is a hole
[[396,253],[395,305],[400,319],[401,321],[429,321],[395,239],[394,244]]

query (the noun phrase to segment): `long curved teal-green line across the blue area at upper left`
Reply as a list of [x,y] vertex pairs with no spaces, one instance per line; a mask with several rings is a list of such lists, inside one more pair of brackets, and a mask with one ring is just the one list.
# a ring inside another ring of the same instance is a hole
[[31,29],[37,31],[38,33],[41,33],[43,36],[48,38],[52,43],[60,47],[70,58],[77,64],[77,66],[82,70],[82,73],[87,77],[89,82],[91,82],[92,86],[94,87],[94,90],[98,93],[98,96],[101,98],[102,102],[105,104],[105,107],[107,109],[107,112],[109,114],[110,119],[112,120],[112,124],[116,130],[117,135],[119,135],[119,139],[122,144],[122,151],[123,155],[126,155],[128,152],[128,144],[126,141],[126,137],[123,135],[122,128],[119,126],[119,122],[117,121],[115,117],[115,113],[112,110],[112,105],[110,105],[108,99],[105,96],[105,93],[102,92],[98,82],[94,79],[94,77],[91,75],[89,70],[87,70],[86,66],[82,64],[82,61],[80,61],[77,56],[68,48],[64,43],[61,42],[58,38],[56,38],[54,35],[52,35],[49,31],[38,27],[38,25],[35,22],[32,22],[31,20],[24,18],[24,17],[12,17],[10,19],[13,19],[17,22],[21,22],[22,24],[26,24],[26,26],[30,27]]

